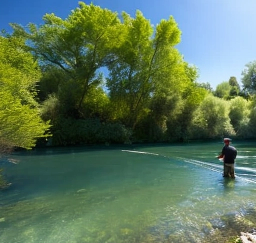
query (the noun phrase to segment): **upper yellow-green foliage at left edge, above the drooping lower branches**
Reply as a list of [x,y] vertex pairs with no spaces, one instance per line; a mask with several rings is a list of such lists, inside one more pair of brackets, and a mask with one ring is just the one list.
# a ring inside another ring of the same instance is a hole
[[0,85],[22,103],[36,106],[35,84],[40,71],[33,56],[24,51],[21,38],[0,36]]

